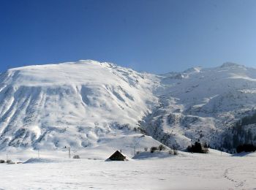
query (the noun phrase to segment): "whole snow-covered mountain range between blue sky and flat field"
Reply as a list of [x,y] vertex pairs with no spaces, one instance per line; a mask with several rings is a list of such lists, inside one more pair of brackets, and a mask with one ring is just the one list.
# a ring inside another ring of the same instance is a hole
[[219,148],[255,105],[256,69],[233,63],[165,75],[97,61],[24,66],[0,75],[0,148]]

